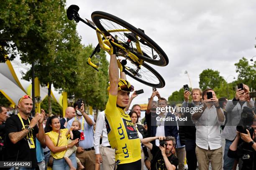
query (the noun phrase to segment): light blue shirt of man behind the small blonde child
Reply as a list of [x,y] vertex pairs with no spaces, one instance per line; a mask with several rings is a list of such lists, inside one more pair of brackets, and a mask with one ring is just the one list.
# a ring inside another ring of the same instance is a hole
[[[92,117],[92,115],[88,115],[91,119],[92,119],[92,122],[94,123],[94,118]],[[73,117],[72,119],[70,119],[68,122],[67,122],[67,128],[70,129],[70,127],[72,126],[72,122],[75,120],[75,117]],[[76,116],[76,120],[79,120],[80,123],[81,123],[81,126],[82,126],[82,121],[84,121],[84,130],[82,130],[82,127],[81,127],[81,130],[79,130],[80,132],[84,132],[84,140],[80,140],[79,141],[79,147],[82,147],[84,149],[87,149],[87,148],[92,148],[93,147],[93,135],[94,135],[94,132],[93,132],[93,125],[90,126],[88,125],[88,123],[86,122],[86,120],[84,119],[84,117],[82,116],[81,119],[79,119],[77,116]]]

